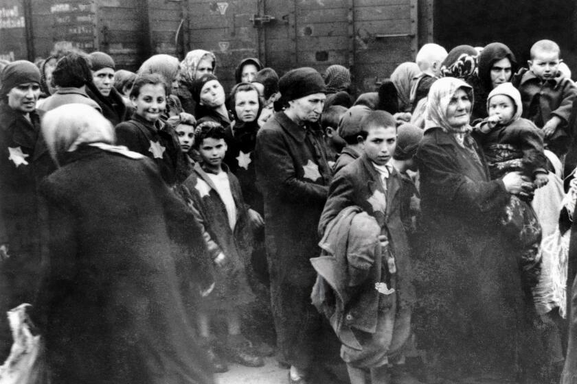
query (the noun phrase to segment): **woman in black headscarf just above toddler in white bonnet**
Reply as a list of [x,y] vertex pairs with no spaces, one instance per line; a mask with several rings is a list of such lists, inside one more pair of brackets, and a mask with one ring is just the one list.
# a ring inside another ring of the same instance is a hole
[[517,72],[517,60],[512,51],[502,43],[490,43],[479,53],[477,76],[469,78],[475,91],[472,120],[487,117],[487,97],[499,84],[510,82]]

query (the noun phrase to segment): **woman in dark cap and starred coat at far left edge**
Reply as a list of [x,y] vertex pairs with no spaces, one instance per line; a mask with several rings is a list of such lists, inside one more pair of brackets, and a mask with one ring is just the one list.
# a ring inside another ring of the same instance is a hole
[[36,189],[54,170],[36,113],[40,77],[26,60],[11,62],[0,75],[0,361],[12,345],[5,313],[34,300],[40,277]]

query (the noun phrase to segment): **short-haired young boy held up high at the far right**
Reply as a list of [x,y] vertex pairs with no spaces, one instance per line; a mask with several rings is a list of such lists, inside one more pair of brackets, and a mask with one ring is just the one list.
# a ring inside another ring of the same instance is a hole
[[577,87],[559,71],[561,49],[551,40],[539,40],[531,47],[529,71],[521,77],[519,91],[523,117],[543,130],[545,147],[561,158],[569,149],[569,117]]

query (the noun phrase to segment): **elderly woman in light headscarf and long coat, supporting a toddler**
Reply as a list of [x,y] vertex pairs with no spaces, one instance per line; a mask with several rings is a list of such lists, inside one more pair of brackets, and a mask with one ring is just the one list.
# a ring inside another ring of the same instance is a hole
[[[528,193],[530,180],[507,173],[490,180],[468,125],[471,86],[437,80],[427,104],[416,160],[424,232],[416,265],[420,342],[438,359],[437,374],[514,379],[530,348],[519,256],[501,228],[510,193]],[[521,359],[517,359],[521,351]],[[526,372],[525,372],[526,373]]]

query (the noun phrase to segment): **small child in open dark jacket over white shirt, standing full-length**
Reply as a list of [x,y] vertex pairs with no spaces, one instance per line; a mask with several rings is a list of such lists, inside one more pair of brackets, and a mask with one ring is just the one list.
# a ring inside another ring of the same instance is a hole
[[216,354],[210,341],[210,326],[217,315],[227,324],[225,353],[229,359],[251,367],[264,365],[240,334],[240,308],[254,300],[247,283],[245,263],[252,248],[249,215],[240,184],[223,163],[227,145],[225,129],[214,121],[196,127],[194,147],[201,161],[183,183],[183,194],[201,224],[207,248],[215,265],[214,291],[201,302],[198,312],[200,336],[205,341],[215,372],[227,365]]

